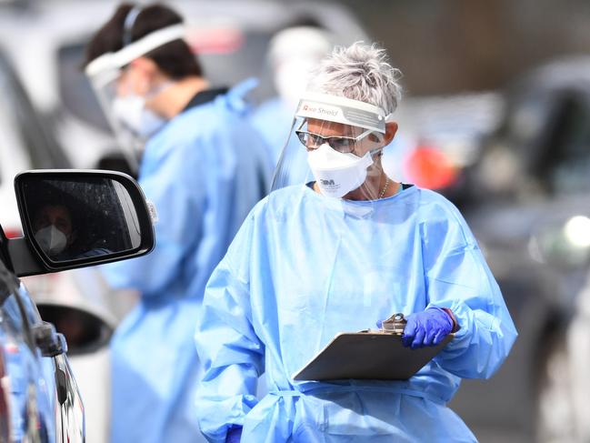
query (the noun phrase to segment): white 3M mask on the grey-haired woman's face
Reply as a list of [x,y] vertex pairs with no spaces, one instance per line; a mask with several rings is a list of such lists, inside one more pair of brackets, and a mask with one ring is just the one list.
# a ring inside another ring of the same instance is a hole
[[342,198],[365,183],[373,158],[370,152],[362,157],[343,154],[325,143],[307,154],[307,163],[322,194]]

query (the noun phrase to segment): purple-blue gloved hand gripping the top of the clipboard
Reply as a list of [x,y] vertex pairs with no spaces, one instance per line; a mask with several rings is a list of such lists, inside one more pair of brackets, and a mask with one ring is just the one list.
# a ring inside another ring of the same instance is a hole
[[455,325],[453,317],[439,307],[429,307],[422,312],[410,314],[405,319],[407,324],[402,343],[412,349],[438,345],[453,332]]

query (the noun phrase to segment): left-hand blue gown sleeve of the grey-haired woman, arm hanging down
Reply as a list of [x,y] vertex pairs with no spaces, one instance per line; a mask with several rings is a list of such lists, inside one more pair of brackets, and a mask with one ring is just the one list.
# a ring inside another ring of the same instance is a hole
[[197,414],[201,431],[214,442],[224,442],[232,426],[244,425],[245,415],[258,402],[256,381],[264,371],[264,345],[256,336],[250,307],[253,225],[251,214],[209,279],[195,334],[204,367]]

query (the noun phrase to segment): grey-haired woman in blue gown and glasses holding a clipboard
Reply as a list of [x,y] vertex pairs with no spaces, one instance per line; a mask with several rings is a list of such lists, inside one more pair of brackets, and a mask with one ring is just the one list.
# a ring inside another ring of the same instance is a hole
[[[310,77],[293,124],[308,172],[284,186],[281,156],[205,289],[197,413],[210,441],[475,441],[446,404],[462,378],[494,374],[515,326],[455,206],[383,170],[398,78],[383,49],[361,43]],[[406,347],[450,339],[414,377],[294,380],[336,334],[398,312]],[[256,398],[262,372],[269,393]]]

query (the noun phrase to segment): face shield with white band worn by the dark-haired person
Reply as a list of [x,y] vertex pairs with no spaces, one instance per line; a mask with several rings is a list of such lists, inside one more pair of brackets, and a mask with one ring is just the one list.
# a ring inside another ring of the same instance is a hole
[[133,94],[128,65],[155,48],[184,36],[184,25],[167,26],[125,45],[115,53],[106,53],[95,58],[85,68],[98,102],[135,171],[138,154],[146,139],[155,134],[165,120],[145,107],[145,100],[161,92],[162,87],[152,91],[150,96]]

